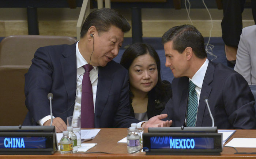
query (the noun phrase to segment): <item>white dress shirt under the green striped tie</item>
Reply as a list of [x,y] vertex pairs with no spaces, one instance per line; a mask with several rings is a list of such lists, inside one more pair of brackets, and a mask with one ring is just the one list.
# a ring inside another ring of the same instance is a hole
[[[196,85],[195,91],[197,96],[197,111],[198,111],[199,99],[200,99],[201,90],[203,86],[204,76],[205,76],[208,64],[209,64],[209,60],[206,59],[206,61],[204,61],[203,65],[198,69],[198,71],[195,73],[192,79],[188,78],[189,82],[192,81]],[[196,115],[196,119],[197,119],[197,115]],[[187,112],[186,112],[186,118],[185,118],[185,125],[187,125]]]

